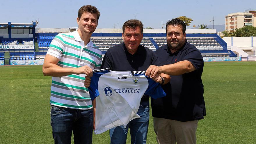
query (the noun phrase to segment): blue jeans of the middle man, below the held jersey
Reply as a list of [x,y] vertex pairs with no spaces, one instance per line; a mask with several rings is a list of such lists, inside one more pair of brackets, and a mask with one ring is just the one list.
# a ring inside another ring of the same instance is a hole
[[141,103],[137,114],[141,118],[131,120],[126,128],[124,126],[118,126],[109,130],[111,144],[125,144],[128,128],[130,128],[132,144],[146,143],[149,122],[149,101]]

